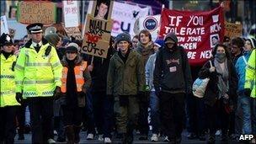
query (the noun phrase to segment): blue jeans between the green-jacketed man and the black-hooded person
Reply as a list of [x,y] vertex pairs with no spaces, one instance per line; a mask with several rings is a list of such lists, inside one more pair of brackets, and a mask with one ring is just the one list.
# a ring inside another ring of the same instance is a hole
[[160,127],[159,98],[154,91],[150,92],[150,109],[152,133],[158,134]]

